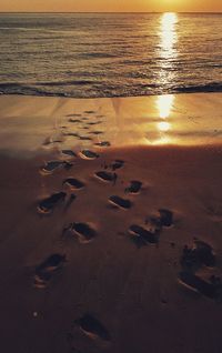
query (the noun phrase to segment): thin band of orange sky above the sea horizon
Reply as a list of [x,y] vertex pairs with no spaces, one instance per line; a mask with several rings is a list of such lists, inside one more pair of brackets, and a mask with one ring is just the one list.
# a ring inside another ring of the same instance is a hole
[[222,11],[222,0],[0,0],[0,11]]

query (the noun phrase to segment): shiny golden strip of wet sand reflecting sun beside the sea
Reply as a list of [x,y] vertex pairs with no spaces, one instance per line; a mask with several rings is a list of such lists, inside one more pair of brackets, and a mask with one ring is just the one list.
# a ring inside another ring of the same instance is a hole
[[[221,144],[222,93],[72,99],[0,95],[0,150]],[[211,118],[213,117],[213,118]]]

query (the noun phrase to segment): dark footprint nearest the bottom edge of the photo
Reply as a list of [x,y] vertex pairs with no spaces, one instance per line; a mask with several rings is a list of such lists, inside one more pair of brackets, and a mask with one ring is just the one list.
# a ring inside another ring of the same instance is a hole
[[110,341],[110,333],[104,325],[91,314],[85,314],[82,317],[74,321],[74,323],[82,330],[82,332],[90,339],[100,339],[103,341]]

